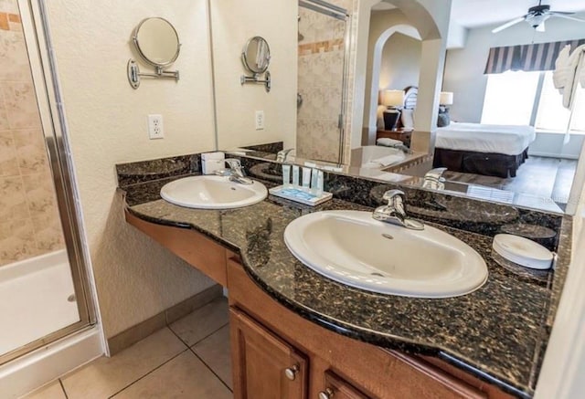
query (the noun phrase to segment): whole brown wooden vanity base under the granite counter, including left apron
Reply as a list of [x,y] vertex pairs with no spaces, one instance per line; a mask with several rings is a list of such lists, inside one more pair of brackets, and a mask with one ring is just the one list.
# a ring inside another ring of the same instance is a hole
[[347,338],[282,306],[238,255],[193,230],[128,223],[229,288],[236,399],[497,398],[511,395],[436,358]]

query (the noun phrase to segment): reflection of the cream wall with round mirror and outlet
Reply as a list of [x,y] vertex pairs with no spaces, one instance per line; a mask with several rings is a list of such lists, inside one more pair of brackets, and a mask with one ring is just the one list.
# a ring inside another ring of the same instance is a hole
[[[297,87],[297,15],[294,1],[211,0],[211,26],[218,112],[218,148],[284,141],[295,146]],[[240,60],[250,37],[271,47],[272,89],[240,85],[246,73]],[[256,131],[254,112],[264,110],[264,130]]]

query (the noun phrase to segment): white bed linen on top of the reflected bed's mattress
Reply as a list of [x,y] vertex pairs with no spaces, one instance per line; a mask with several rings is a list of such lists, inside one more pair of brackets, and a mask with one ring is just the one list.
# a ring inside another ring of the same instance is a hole
[[532,126],[451,122],[437,128],[435,147],[445,150],[517,155],[537,138]]

